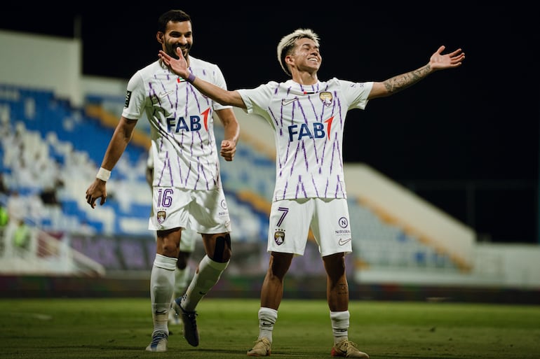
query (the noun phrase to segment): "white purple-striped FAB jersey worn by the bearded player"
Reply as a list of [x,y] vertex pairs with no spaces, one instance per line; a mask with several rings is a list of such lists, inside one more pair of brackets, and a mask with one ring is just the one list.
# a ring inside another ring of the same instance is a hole
[[[227,88],[219,67],[189,57],[198,78]],[[215,110],[230,108],[203,96],[158,60],[130,78],[122,115],[138,120],[146,113],[154,148],[154,186],[189,190],[221,188]]]

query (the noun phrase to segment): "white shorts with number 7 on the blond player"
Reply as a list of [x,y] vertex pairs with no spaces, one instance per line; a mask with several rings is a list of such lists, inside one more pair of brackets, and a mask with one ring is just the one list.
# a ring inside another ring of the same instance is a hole
[[310,227],[321,257],[352,252],[349,206],[345,198],[272,202],[268,251],[304,255]]

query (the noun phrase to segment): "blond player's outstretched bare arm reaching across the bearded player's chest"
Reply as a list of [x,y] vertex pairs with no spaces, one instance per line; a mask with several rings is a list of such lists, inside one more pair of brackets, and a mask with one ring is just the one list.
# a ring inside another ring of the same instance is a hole
[[166,64],[171,71],[188,80],[191,85],[194,85],[202,94],[205,94],[222,105],[245,108],[244,101],[242,101],[242,97],[240,94],[238,94],[238,92],[223,90],[221,87],[208,83],[200,78],[189,80],[189,75],[191,75],[191,73],[189,72],[189,69],[187,69],[187,62],[182,55],[182,50],[180,50],[180,48],[176,48],[176,52],[179,57],[178,59],[170,57],[162,50],[159,50],[158,56],[161,61],[163,61],[163,64]]

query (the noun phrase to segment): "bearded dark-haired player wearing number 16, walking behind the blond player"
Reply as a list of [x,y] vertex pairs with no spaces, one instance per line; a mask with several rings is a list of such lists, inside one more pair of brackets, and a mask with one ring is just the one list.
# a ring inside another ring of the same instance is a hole
[[[101,199],[101,205],[105,203],[111,171],[126,150],[137,120],[146,113],[154,155],[149,230],[156,231],[157,236],[150,277],[154,330],[147,351],[163,352],[167,351],[168,314],[182,230],[200,233],[206,252],[186,293],[173,303],[191,346],[199,343],[196,306],[220,279],[231,259],[231,220],[222,188],[219,155],[233,160],[239,127],[231,106],[203,96],[189,80],[197,76],[227,89],[217,65],[189,55],[193,45],[191,17],[182,10],[163,13],[158,18],[156,39],[168,55],[182,54],[189,73],[177,76],[158,59],[130,78],[119,124],[95,181],[86,190],[86,202],[92,208],[97,199]],[[224,125],[220,148],[214,136],[214,112]]]

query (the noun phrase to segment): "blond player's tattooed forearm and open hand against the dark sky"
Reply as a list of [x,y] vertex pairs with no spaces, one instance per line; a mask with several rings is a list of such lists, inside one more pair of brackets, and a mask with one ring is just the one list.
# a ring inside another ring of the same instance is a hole
[[407,87],[414,85],[419,80],[426,78],[426,76],[432,72],[461,66],[461,62],[465,59],[465,53],[462,52],[460,48],[449,54],[443,55],[442,52],[444,50],[445,46],[440,46],[440,48],[431,55],[428,64],[421,66],[419,69],[393,76],[388,80],[384,80],[382,83],[373,83],[368,99],[390,96],[391,94],[395,94],[396,92],[400,92],[401,90],[405,90]]

